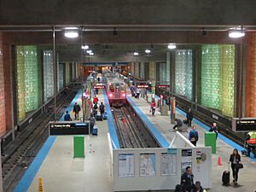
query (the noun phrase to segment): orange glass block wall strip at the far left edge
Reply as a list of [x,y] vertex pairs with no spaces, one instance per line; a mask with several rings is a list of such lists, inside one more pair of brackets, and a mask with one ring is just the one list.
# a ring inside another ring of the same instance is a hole
[[5,99],[4,99],[4,78],[3,78],[3,42],[0,33],[0,136],[6,131],[5,120]]

